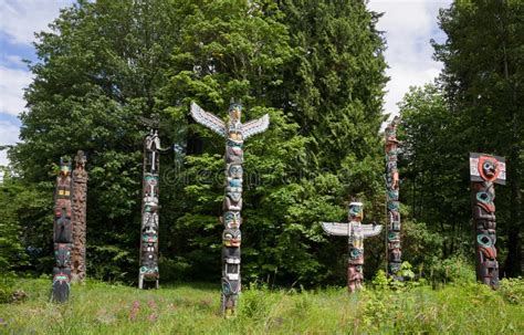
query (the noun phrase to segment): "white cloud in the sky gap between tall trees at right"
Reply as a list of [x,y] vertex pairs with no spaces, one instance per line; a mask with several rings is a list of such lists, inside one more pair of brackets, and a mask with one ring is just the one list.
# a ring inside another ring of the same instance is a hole
[[384,12],[378,30],[385,32],[387,41],[387,75],[385,112],[398,114],[397,103],[409,91],[431,82],[442,69],[432,60],[431,39],[439,38],[437,15],[439,8],[448,8],[451,0],[370,0],[368,8]]

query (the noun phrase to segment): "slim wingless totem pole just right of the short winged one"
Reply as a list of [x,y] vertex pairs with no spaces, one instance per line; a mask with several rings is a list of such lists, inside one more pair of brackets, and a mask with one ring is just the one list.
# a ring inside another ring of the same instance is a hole
[[388,274],[395,279],[402,263],[402,251],[400,249],[400,202],[398,201],[398,169],[397,169],[397,125],[399,118],[395,117],[386,127],[386,201],[387,201],[387,250],[388,250]]

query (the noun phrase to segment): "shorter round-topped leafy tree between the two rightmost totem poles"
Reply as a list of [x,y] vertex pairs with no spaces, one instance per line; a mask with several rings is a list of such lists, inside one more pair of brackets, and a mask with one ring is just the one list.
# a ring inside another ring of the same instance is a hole
[[436,85],[411,87],[399,107],[401,202],[411,218],[443,238],[442,250],[436,253],[444,258],[467,253],[472,245],[469,164],[463,151],[469,134]]

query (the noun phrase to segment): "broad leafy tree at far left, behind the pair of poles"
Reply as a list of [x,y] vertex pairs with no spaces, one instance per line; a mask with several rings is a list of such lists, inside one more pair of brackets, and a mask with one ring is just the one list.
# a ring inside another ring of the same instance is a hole
[[[186,8],[160,0],[78,1],[62,10],[52,32],[38,34],[39,62],[30,66],[34,81],[21,114],[23,143],[10,158],[25,184],[51,185],[43,197],[51,208],[53,165],[86,151],[87,259],[99,276],[137,269],[145,130],[137,116],[161,112],[155,95]],[[51,237],[52,220],[44,222],[31,233]],[[51,254],[46,239],[33,247]]]

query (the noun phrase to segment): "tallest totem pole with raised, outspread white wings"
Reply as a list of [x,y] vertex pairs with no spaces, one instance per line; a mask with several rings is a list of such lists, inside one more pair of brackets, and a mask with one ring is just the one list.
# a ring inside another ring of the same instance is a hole
[[270,125],[268,114],[259,119],[241,123],[242,106],[231,103],[227,124],[216,115],[205,112],[191,103],[191,116],[195,121],[226,138],[226,197],[223,216],[220,221],[224,224],[222,233],[222,314],[235,314],[240,294],[240,224],[242,218],[242,164],[243,142],[248,137],[263,133]]

